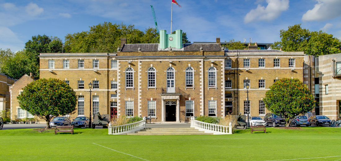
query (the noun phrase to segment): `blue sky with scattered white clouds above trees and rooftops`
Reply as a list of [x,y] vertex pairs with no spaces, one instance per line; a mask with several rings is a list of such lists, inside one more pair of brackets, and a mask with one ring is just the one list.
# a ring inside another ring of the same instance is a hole
[[[279,31],[302,24],[341,38],[341,0],[177,0],[173,30],[193,41],[243,38],[258,43],[279,41]],[[170,31],[171,0],[0,0],[0,48],[22,50],[33,35],[57,36],[89,30],[103,22],[134,24],[145,30]]]

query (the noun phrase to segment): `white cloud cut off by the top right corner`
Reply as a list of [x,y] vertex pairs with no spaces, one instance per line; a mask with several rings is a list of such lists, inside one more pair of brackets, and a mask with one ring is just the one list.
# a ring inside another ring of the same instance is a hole
[[340,0],[317,0],[314,8],[302,16],[302,21],[322,21],[341,16]]

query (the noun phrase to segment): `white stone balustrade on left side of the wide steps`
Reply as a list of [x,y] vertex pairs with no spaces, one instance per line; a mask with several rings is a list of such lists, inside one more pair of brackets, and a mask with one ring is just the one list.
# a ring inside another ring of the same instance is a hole
[[146,118],[143,118],[142,121],[125,124],[125,125],[119,125],[119,126],[108,126],[109,135],[121,135],[121,134],[127,134],[132,133],[135,131],[142,130],[146,128]]

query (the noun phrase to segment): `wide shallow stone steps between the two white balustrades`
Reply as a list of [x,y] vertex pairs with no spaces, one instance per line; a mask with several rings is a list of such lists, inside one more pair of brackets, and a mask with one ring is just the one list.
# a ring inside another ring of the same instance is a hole
[[194,128],[145,128],[127,135],[212,135]]

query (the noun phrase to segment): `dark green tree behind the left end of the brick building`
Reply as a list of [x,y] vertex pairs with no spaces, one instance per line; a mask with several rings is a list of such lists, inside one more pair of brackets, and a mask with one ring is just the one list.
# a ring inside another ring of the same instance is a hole
[[35,78],[39,78],[39,53],[61,53],[62,41],[58,37],[32,36],[32,40],[25,43],[25,50],[30,59],[30,71]]

